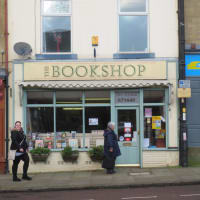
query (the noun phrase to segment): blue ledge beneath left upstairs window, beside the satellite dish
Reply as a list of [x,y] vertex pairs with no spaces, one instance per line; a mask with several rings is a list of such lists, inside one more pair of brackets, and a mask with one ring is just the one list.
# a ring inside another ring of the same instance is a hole
[[37,60],[77,60],[77,54],[35,54]]

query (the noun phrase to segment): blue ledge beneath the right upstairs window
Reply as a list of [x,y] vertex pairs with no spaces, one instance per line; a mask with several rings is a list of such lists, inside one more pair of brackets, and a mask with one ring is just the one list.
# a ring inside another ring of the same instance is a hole
[[155,53],[115,53],[114,59],[141,59],[141,58],[155,58]]

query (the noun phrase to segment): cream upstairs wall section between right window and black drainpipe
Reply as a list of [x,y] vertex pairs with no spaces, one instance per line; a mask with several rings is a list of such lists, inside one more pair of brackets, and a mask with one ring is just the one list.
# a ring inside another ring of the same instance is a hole
[[177,1],[150,0],[150,52],[156,57],[178,57]]

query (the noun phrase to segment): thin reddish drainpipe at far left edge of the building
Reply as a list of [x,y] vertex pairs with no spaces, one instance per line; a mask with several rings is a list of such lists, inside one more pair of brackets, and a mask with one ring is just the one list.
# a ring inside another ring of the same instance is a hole
[[5,173],[8,173],[9,169],[9,163],[8,163],[8,145],[9,145],[9,136],[8,136],[8,114],[9,114],[9,99],[8,99],[8,0],[4,0],[5,2],[5,69],[6,69],[6,167],[5,167]]

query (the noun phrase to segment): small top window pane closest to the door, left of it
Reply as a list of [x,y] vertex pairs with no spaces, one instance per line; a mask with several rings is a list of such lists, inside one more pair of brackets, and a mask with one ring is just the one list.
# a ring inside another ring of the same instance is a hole
[[110,103],[110,91],[86,91],[85,103]]

